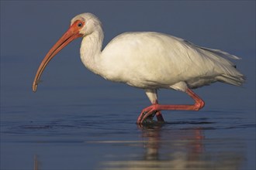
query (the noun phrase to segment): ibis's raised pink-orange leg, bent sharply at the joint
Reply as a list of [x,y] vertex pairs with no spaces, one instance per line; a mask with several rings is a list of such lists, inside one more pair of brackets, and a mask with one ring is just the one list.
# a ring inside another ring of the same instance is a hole
[[[144,108],[142,110],[140,116],[137,119],[137,124],[142,124],[143,121],[149,117],[151,114],[155,112],[159,112],[160,110],[200,110],[204,107],[205,103],[199,96],[197,96],[192,90],[187,89],[186,93],[189,94],[192,99],[195,100],[195,104],[193,105],[161,105],[161,104],[152,104],[150,107]],[[160,118],[161,119],[161,118]],[[158,117],[157,117],[158,120]]]

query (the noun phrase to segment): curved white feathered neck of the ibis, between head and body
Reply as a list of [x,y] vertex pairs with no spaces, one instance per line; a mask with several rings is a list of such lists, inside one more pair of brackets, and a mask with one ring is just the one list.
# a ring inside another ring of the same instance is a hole
[[84,65],[92,72],[99,74],[99,59],[102,51],[103,31],[99,26],[97,29],[85,36],[81,42],[80,56]]

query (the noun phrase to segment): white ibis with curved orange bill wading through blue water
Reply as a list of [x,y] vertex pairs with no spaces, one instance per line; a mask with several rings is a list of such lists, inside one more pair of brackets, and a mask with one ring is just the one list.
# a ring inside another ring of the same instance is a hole
[[[137,124],[164,122],[161,110],[200,110],[205,102],[193,91],[210,83],[222,82],[241,86],[245,76],[230,59],[240,59],[220,49],[196,46],[185,39],[161,32],[124,32],[102,49],[102,22],[92,13],[71,19],[67,32],[54,44],[36,72],[33,92],[47,64],[67,44],[82,38],[81,62],[106,80],[126,83],[143,89],[151,105],[144,108]],[[169,89],[187,93],[194,104],[159,104],[157,90]]]

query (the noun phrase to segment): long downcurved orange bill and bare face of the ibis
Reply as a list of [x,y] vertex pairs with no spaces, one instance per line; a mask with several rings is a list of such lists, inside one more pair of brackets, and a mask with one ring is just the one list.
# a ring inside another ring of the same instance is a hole
[[50,49],[50,51],[47,53],[47,55],[44,57],[42,63],[40,64],[36,76],[33,81],[33,92],[36,92],[37,84],[40,82],[40,76],[43,73],[43,70],[47,66],[47,64],[50,62],[50,59],[53,59],[54,56],[61,51],[67,44],[69,44],[71,41],[74,39],[77,39],[78,37],[83,36],[79,30],[81,28],[78,27],[78,22],[81,21],[76,21],[74,22],[70,28],[67,30],[67,32],[64,33],[64,35],[59,39],[56,44]]

